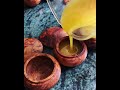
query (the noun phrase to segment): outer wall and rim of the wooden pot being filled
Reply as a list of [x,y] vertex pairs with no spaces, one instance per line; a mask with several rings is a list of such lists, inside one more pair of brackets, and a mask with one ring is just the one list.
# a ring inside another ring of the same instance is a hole
[[74,66],[80,65],[87,57],[87,53],[88,53],[87,46],[85,45],[84,42],[78,41],[82,47],[81,53],[78,54],[77,56],[76,55],[64,56],[59,51],[59,43],[62,42],[64,39],[69,40],[69,37],[64,37],[63,39],[61,39],[61,41],[59,41],[54,48],[54,53],[56,58],[64,66],[74,67]]

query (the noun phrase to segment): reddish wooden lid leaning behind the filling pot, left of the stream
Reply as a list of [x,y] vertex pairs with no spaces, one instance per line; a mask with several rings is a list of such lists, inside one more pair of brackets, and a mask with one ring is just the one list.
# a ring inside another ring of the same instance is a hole
[[50,27],[40,34],[40,41],[43,45],[54,48],[56,42],[67,36],[67,33],[60,27]]

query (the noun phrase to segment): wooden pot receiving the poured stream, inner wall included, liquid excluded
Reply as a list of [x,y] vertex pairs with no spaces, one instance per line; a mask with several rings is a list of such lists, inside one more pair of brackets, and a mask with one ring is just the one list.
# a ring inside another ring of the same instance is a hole
[[59,42],[56,43],[54,53],[58,61],[68,67],[74,67],[81,64],[87,57],[87,47],[84,42],[73,40],[73,46],[77,47],[77,51],[74,55],[65,55],[65,50],[61,52],[62,47],[69,45],[69,37],[63,37]]

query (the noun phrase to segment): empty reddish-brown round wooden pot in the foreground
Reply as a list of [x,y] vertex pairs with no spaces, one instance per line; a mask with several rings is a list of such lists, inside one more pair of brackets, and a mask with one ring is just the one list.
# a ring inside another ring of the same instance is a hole
[[[39,60],[36,60],[35,59],[36,57],[39,57]],[[52,64],[49,61],[44,62],[44,60],[47,59],[43,59],[43,57],[50,60]],[[41,69],[41,71],[44,70],[45,71],[40,72],[39,69]],[[51,74],[50,74],[51,72],[50,69],[52,70]],[[32,77],[30,74],[32,75]],[[34,56],[30,57],[24,64],[24,85],[30,90],[49,90],[59,81],[60,75],[61,75],[61,67],[59,63],[53,56],[49,54],[45,54],[45,53],[35,54]],[[33,77],[35,78],[32,79]]]

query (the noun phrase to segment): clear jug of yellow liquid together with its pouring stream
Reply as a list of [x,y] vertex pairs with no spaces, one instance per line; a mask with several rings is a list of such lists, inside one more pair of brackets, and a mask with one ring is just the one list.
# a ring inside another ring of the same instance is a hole
[[[60,22],[69,35],[70,50],[73,50],[73,38],[96,38],[96,0],[71,0],[64,8]],[[75,31],[80,36],[74,35]]]

